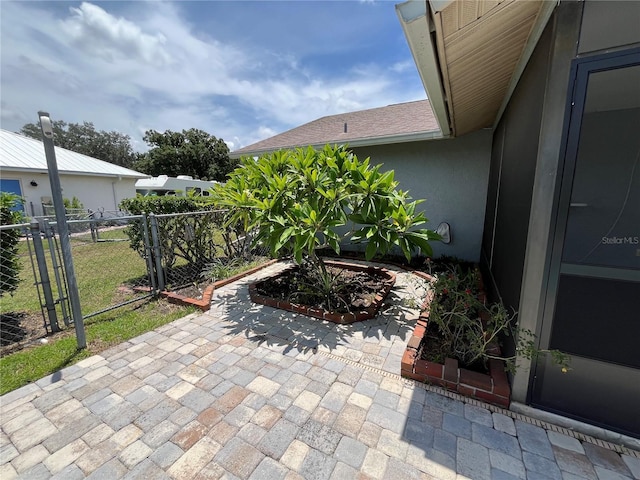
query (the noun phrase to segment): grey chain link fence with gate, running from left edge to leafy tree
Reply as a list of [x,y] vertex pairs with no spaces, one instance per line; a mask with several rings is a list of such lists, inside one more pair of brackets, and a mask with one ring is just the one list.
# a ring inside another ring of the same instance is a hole
[[[250,236],[224,227],[225,213],[128,216],[102,211],[90,218],[68,220],[82,318],[144,300],[161,290],[177,291],[214,281],[212,265],[221,271],[239,259],[266,256],[264,249],[251,247]],[[21,325],[27,321],[38,322],[43,333],[72,325],[56,222],[34,217],[30,224],[0,229],[2,345],[19,344]]]

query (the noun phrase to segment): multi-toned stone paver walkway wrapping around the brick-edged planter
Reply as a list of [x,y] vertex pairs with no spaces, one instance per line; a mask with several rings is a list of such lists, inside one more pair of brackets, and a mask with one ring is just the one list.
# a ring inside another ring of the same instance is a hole
[[348,326],[248,300],[0,397],[0,479],[640,479],[618,454],[399,377],[424,285]]

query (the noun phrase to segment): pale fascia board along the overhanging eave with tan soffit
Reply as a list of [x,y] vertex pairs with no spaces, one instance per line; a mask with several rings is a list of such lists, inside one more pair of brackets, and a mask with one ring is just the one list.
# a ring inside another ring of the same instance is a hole
[[431,41],[431,28],[426,0],[410,0],[396,5],[402,30],[407,38],[422,85],[443,137],[451,135],[449,112],[445,103],[442,75],[438,65],[436,46]]

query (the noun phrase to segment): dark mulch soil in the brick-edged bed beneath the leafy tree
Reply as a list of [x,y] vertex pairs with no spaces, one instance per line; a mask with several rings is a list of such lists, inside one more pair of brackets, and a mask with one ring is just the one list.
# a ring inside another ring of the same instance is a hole
[[[384,278],[370,272],[357,272],[328,266],[327,270],[340,275],[340,288],[331,301],[331,306],[321,296],[314,295],[309,281],[303,277],[300,269],[294,267],[280,275],[267,278],[256,285],[257,293],[276,300],[306,305],[312,308],[331,310],[334,313],[350,313],[366,308],[384,289]],[[333,307],[338,305],[338,307]]]

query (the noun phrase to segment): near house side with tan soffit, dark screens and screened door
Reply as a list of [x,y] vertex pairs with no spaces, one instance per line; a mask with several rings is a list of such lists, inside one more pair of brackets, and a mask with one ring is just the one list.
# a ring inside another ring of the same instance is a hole
[[491,129],[481,267],[492,296],[541,348],[572,356],[568,374],[523,360],[515,408],[640,438],[640,2],[397,11],[444,134],[463,143]]

